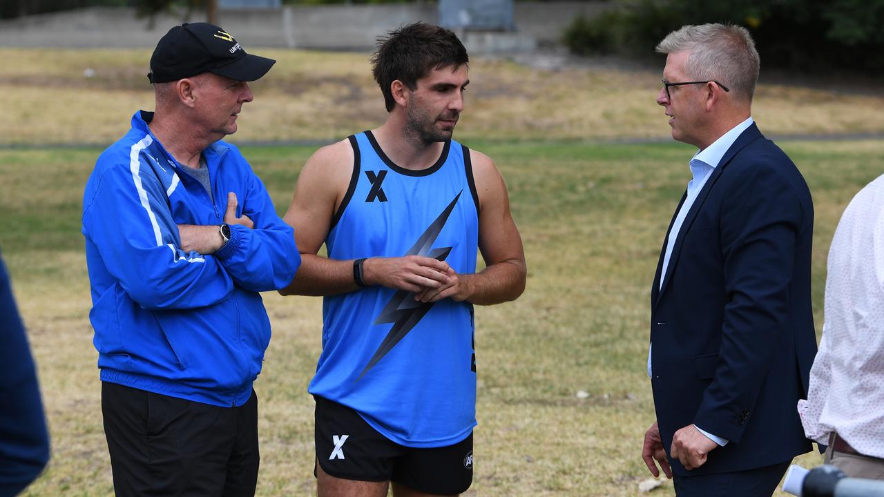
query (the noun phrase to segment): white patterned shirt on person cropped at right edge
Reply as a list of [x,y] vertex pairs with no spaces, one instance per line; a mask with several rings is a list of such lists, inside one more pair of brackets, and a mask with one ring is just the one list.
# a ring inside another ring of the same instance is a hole
[[844,210],[829,249],[826,323],[798,413],[809,439],[831,432],[884,457],[884,176]]

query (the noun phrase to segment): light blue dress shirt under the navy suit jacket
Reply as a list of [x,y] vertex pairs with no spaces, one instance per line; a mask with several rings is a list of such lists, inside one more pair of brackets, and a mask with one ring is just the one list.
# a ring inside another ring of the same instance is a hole
[[[715,168],[718,167],[721,162],[721,157],[724,157],[725,153],[728,152],[728,149],[730,149],[731,145],[736,141],[736,138],[740,136],[740,134],[743,134],[743,131],[745,131],[746,128],[752,126],[753,122],[755,121],[753,121],[751,117],[744,120],[742,123],[731,128],[728,133],[722,134],[718,140],[713,141],[712,145],[705,149],[697,150],[694,157],[690,159],[690,173],[693,175],[693,179],[688,183],[688,195],[685,197],[684,203],[682,203],[682,208],[678,210],[678,214],[675,216],[675,221],[672,224],[672,229],[669,231],[666,254],[663,256],[663,267],[660,269],[660,288],[663,287],[663,279],[666,278],[669,256],[672,256],[672,248],[675,245],[675,239],[678,238],[678,233],[682,229],[682,223],[684,222],[684,218],[687,217],[690,207],[694,204],[694,201],[697,200],[697,195],[699,195],[700,191],[703,189],[706,180],[709,180],[709,177],[712,176]],[[653,344],[648,348],[648,377],[650,378],[653,378],[651,370],[652,347]],[[728,443],[728,440],[716,437],[712,433],[704,432],[699,426],[697,426],[697,430],[720,446],[724,446]]]

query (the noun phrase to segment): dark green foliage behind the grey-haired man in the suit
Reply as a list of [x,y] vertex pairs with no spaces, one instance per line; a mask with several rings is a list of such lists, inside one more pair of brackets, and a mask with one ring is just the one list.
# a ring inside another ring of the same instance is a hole
[[747,27],[767,67],[884,73],[884,0],[613,0],[608,7],[599,19],[568,27],[572,51],[647,56],[674,29],[722,22]]

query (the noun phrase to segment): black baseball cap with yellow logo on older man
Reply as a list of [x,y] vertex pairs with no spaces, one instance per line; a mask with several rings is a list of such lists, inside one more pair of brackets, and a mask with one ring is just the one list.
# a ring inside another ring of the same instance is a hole
[[216,73],[238,81],[254,81],[276,64],[272,58],[246,53],[224,29],[208,22],[172,27],[150,56],[151,83]]

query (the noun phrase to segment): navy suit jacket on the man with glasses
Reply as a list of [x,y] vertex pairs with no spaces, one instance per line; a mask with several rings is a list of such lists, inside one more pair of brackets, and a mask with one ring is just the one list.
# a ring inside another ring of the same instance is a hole
[[670,457],[676,474],[750,470],[812,449],[796,409],[817,351],[812,234],[804,178],[753,124],[691,205],[663,287],[662,251],[654,277],[652,389],[667,454],[692,423],[729,440],[696,470]]

